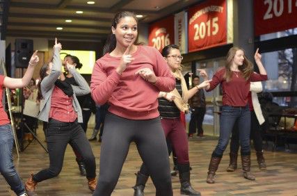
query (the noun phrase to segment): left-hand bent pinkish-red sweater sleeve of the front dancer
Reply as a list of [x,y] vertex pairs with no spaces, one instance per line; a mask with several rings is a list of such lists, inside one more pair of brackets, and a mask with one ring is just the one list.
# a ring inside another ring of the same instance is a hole
[[109,100],[120,81],[120,77],[120,74],[115,70],[107,76],[102,64],[99,61],[95,63],[90,81],[90,91],[96,104],[103,105]]

